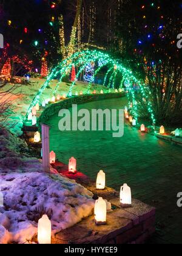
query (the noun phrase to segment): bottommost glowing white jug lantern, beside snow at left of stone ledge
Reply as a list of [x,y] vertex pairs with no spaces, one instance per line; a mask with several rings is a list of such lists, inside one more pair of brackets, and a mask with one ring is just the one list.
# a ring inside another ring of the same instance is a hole
[[38,221],[38,243],[51,244],[51,222],[47,215],[43,215]]

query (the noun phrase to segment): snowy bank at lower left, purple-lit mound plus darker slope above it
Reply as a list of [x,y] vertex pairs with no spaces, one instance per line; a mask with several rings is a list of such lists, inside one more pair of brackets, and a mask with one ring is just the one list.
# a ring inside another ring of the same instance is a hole
[[0,141],[0,244],[26,243],[37,233],[38,218],[47,212],[53,233],[92,214],[90,191],[59,174],[42,173],[24,141],[7,130],[0,129]]

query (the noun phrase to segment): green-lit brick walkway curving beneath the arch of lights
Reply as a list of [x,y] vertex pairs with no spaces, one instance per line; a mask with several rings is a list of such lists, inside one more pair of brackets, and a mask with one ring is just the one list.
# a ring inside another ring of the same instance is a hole
[[[126,99],[79,105],[78,108],[123,108]],[[104,169],[107,186],[132,188],[136,199],[157,208],[157,233],[149,243],[182,243],[182,208],[177,193],[182,191],[182,148],[125,124],[124,137],[112,132],[60,132],[59,117],[50,119],[50,148],[61,162],[74,156],[78,170],[92,179]]]

